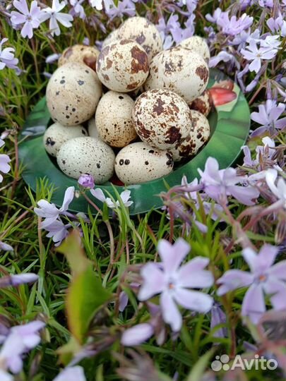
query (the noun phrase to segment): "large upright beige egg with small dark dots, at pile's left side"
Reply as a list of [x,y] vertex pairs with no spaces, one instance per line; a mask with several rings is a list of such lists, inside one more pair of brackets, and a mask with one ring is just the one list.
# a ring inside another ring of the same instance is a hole
[[56,69],[46,94],[53,121],[75,126],[95,114],[102,87],[95,71],[83,63],[69,62]]

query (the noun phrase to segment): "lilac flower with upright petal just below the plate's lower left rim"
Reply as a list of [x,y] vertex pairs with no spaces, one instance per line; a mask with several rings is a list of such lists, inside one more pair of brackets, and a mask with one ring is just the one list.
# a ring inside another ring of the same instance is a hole
[[64,193],[63,205],[58,209],[56,205],[51,204],[47,200],[40,200],[37,205],[40,207],[35,207],[35,214],[39,217],[45,218],[42,222],[41,227],[47,228],[50,224],[56,221],[60,214],[66,214],[68,207],[74,197],[74,186],[69,186]]

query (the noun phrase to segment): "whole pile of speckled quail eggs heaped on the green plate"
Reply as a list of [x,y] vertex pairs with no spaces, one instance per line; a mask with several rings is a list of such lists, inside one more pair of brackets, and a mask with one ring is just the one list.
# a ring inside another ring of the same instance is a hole
[[44,147],[73,179],[126,185],[169,174],[210,136],[210,52],[190,37],[163,50],[160,33],[133,17],[95,47],[68,47],[47,85],[54,121]]

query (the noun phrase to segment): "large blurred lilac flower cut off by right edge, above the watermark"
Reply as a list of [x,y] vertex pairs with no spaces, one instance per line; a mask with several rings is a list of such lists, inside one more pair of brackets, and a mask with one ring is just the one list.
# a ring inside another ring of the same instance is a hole
[[278,251],[275,246],[267,244],[258,254],[251,248],[245,248],[242,255],[251,272],[228,270],[217,281],[220,284],[218,295],[241,287],[249,288],[242,303],[242,316],[248,316],[254,324],[266,311],[264,294],[270,296],[275,310],[286,308],[286,260],[273,265]]

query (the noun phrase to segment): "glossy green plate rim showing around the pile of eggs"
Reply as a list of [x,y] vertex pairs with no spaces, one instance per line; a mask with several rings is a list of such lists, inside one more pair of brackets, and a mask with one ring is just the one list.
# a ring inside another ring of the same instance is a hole
[[[168,186],[178,185],[184,175],[187,176],[188,181],[192,181],[198,177],[197,169],[205,167],[205,161],[208,157],[215,157],[221,168],[229,167],[237,159],[241,147],[249,135],[249,106],[239,87],[233,84],[230,78],[227,78],[220,71],[213,69],[210,71],[208,88],[213,87],[213,85],[225,87],[225,83],[231,84],[231,87],[233,86],[232,91],[237,94],[237,98],[232,102],[216,106],[211,111],[208,116],[211,129],[211,137],[208,143],[198,152],[196,157],[175,169],[168,176],[143,184],[126,186],[125,188],[131,191],[131,199],[133,200],[133,205],[130,207],[131,214],[148,212],[152,208],[162,207],[162,200],[158,195],[160,192],[166,191],[166,183]],[[19,155],[24,166],[23,179],[25,182],[35,191],[37,179],[48,179],[56,188],[52,202],[61,205],[66,188],[68,186],[77,188],[78,185],[76,180],[69,178],[56,167],[55,162],[44,150],[42,135],[49,123],[49,111],[45,99],[42,98],[25,121],[21,133],[23,143],[20,144]],[[103,191],[106,190],[114,195],[112,185],[109,182],[98,186],[98,188],[102,188]],[[119,193],[124,190],[122,186],[116,186],[116,188]],[[99,207],[102,207],[100,201],[94,201]],[[85,198],[81,196],[73,200],[71,210],[86,213],[88,203]]]

